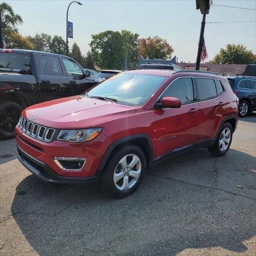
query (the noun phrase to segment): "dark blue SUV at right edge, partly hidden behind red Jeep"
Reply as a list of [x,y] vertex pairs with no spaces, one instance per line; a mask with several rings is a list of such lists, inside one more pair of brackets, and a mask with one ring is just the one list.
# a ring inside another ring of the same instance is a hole
[[239,99],[239,116],[256,111],[256,77],[228,77],[228,82]]

